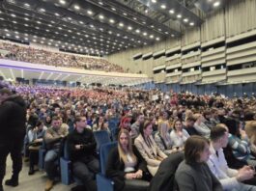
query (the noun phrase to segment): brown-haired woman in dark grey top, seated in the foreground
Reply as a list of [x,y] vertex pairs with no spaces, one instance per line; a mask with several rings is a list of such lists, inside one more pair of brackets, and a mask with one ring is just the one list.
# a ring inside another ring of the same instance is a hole
[[193,135],[185,142],[185,160],[176,171],[180,191],[222,191],[218,179],[207,165],[210,142],[202,136]]

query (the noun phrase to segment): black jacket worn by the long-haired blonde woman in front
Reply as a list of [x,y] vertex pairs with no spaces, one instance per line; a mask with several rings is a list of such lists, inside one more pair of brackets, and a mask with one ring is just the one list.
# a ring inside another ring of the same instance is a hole
[[[133,146],[133,153],[137,157],[137,164],[135,166],[135,171],[142,170],[143,179],[147,179],[147,163],[140,155],[139,151]],[[114,148],[109,152],[107,164],[106,164],[106,176],[113,179],[115,182],[115,191],[122,190],[125,186],[125,163],[120,161],[118,148]]]

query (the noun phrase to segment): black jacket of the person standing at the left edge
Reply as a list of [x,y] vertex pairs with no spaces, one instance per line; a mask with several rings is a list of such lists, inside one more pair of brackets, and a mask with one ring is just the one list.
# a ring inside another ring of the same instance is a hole
[[23,139],[25,123],[26,103],[20,95],[11,95],[0,105],[0,140]]

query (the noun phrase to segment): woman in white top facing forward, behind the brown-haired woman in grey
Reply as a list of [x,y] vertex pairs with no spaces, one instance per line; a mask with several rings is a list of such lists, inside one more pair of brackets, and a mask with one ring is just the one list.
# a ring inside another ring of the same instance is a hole
[[183,128],[181,120],[174,121],[173,130],[170,133],[173,147],[178,147],[180,150],[184,149],[185,140],[189,137],[187,131]]

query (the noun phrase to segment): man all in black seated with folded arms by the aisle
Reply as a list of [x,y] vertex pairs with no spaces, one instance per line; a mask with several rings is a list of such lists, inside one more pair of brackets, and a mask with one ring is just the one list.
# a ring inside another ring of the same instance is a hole
[[96,141],[92,130],[86,128],[86,118],[76,117],[75,129],[68,135],[68,150],[72,172],[87,190],[97,190],[94,178],[100,172],[99,160],[95,157]]

